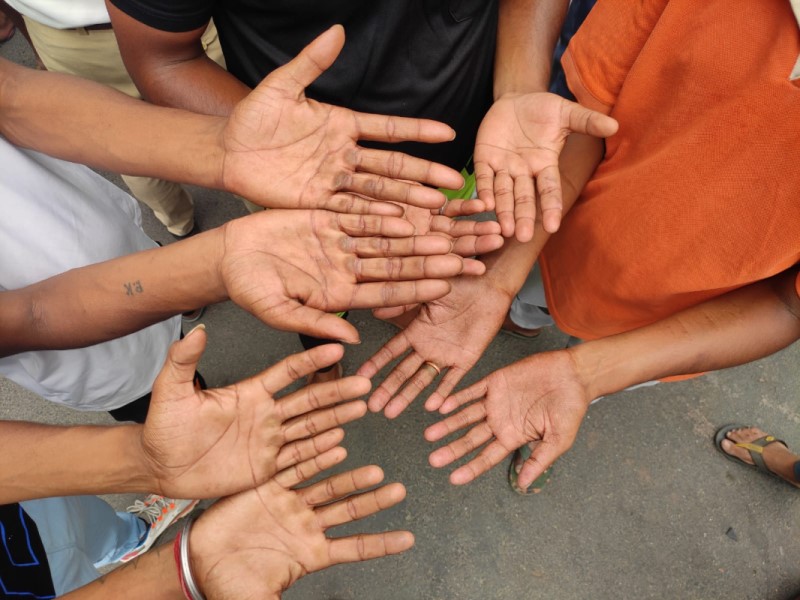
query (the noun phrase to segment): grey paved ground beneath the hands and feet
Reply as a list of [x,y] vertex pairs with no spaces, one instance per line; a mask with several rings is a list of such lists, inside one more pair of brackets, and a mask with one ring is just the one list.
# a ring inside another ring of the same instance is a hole
[[[30,64],[21,36],[0,55]],[[119,183],[118,178],[112,177]],[[195,190],[203,229],[245,214],[226,194]],[[171,236],[146,209],[147,232]],[[356,311],[363,344],[348,349],[348,373],[393,333]],[[250,376],[300,350],[231,303],[210,307],[201,371],[212,386]],[[468,382],[565,336],[498,337]],[[800,345],[765,360],[681,383],[616,394],[594,405],[574,447],[538,495],[520,497],[506,466],[454,487],[431,468],[422,437],[435,421],[418,400],[400,418],[368,415],[347,427],[345,468],[375,463],[407,500],[350,531],[410,529],[416,547],[301,580],[289,600],[532,598],[794,598],[800,594],[800,494],[724,460],[712,442],[727,423],[755,424],[800,448]],[[0,418],[109,423],[50,405],[0,380]],[[130,497],[110,497],[124,508]]]

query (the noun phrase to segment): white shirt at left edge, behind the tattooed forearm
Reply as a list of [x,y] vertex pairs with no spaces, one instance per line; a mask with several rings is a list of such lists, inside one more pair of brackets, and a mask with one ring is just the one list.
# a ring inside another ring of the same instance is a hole
[[[155,246],[138,203],[86,167],[0,137],[0,291]],[[79,410],[119,408],[150,391],[180,317],[76,350],[0,358],[4,375]]]

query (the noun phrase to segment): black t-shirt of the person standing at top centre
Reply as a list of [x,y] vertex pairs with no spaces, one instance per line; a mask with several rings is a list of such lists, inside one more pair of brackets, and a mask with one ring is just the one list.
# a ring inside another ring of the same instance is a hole
[[498,0],[112,0],[163,31],[213,17],[228,70],[253,87],[331,25],[338,60],[308,90],[363,112],[444,121],[454,142],[402,148],[460,169],[492,99]]

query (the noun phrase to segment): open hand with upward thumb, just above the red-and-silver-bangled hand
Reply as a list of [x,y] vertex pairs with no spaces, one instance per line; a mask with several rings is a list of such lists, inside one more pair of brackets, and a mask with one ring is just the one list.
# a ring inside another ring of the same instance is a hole
[[[193,380],[206,346],[196,328],[169,350],[153,385],[141,447],[156,489],[173,498],[216,498],[262,484],[341,442],[337,427],[366,413],[363,377],[279,390],[342,357],[339,345],[319,346],[225,388],[200,391]],[[341,404],[340,404],[341,403]]]

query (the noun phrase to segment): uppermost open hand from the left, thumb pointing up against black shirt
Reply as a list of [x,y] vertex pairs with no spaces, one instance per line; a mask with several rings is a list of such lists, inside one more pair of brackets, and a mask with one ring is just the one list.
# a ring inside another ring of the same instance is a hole
[[306,98],[305,88],[333,64],[343,45],[344,30],[336,25],[237,105],[223,133],[223,186],[272,208],[399,215],[396,205],[374,200],[442,206],[441,192],[413,182],[458,189],[463,179],[457,171],[357,142],[447,142],[455,137],[450,127]]

